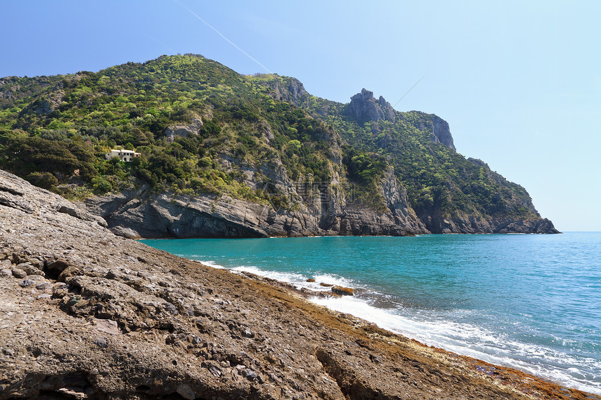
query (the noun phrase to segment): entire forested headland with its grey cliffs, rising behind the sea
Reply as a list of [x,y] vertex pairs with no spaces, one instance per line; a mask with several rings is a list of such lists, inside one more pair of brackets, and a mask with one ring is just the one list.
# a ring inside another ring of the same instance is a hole
[[[448,124],[196,55],[0,79],[0,167],[131,237],[557,232]],[[131,162],[104,154],[136,149]]]

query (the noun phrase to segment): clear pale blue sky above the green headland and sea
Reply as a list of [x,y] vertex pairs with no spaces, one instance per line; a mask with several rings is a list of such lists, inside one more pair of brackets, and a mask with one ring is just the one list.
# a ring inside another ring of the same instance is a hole
[[191,52],[334,101],[365,87],[447,120],[459,153],[559,230],[601,230],[599,1],[0,0],[0,15],[0,76]]

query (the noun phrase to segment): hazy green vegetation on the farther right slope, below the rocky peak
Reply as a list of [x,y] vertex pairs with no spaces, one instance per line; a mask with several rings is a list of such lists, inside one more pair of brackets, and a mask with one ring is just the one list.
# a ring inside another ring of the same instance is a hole
[[[407,188],[418,216],[537,216],[524,188],[508,182],[481,161],[466,159],[431,140],[433,115],[398,112],[395,121],[358,124],[348,105],[311,98],[308,111],[331,124],[350,147],[386,159]],[[350,170],[349,170],[350,171]]]

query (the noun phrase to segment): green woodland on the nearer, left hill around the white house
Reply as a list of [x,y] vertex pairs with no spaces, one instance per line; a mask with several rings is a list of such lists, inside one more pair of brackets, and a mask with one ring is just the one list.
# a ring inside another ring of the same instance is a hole
[[[1,99],[0,166],[64,195],[69,183],[108,193],[139,178],[156,191],[261,201],[267,193],[244,183],[243,168],[281,160],[293,179],[311,174],[323,181],[332,168],[328,144],[319,139],[328,129],[323,122],[203,57],[7,77],[2,84],[12,95]],[[194,119],[203,122],[198,135],[167,140],[168,126]],[[131,163],[106,160],[115,146],[143,156]],[[224,165],[223,158],[236,162]]]

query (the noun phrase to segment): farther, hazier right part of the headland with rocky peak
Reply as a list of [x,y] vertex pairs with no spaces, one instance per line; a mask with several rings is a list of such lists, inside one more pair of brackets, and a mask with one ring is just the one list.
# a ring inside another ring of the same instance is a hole
[[317,101],[310,110],[349,145],[386,156],[429,232],[558,233],[526,189],[458,154],[449,124],[435,114],[396,112],[366,89],[349,105]]

